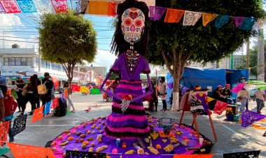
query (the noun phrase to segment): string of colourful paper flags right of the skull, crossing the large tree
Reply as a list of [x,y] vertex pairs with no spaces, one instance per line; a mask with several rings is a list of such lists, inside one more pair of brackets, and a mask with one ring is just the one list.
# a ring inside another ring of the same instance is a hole
[[230,15],[218,15],[173,8],[164,8],[160,6],[150,6],[151,20],[161,20],[162,15],[165,15],[164,22],[167,23],[179,23],[181,18],[183,17],[183,26],[194,26],[197,21],[200,20],[200,17],[202,17],[202,25],[204,27],[206,27],[209,22],[215,20],[215,27],[221,28],[228,23],[230,18],[235,22],[235,27],[244,30],[251,30],[253,27],[260,28],[265,23],[264,19],[255,17],[237,17]]

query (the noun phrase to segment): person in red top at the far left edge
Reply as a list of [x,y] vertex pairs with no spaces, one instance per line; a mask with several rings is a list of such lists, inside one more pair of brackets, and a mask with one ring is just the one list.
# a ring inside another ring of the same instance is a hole
[[15,102],[13,96],[10,94],[6,94],[7,87],[5,85],[0,85],[0,89],[3,92],[3,105],[5,106],[5,113],[4,113],[4,119],[5,122],[9,123],[9,129],[8,129],[8,137],[9,137],[9,143],[15,141],[12,131],[12,119],[13,119],[13,113],[15,112],[15,109],[18,107],[18,103]]

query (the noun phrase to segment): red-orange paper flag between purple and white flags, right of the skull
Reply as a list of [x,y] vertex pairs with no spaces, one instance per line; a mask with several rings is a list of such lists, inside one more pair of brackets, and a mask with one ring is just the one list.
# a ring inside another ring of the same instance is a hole
[[183,17],[184,13],[185,10],[167,8],[167,14],[165,15],[165,22],[169,23],[179,22]]

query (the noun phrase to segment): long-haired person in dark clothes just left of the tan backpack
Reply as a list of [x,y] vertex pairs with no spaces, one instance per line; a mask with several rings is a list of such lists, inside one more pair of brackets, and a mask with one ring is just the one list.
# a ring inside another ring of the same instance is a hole
[[26,89],[27,89],[27,94],[25,96],[25,101],[23,103],[22,112],[20,115],[24,115],[28,101],[31,103],[31,111],[29,112],[29,115],[32,115],[34,110],[36,109],[35,96],[37,93],[37,82],[34,76],[31,76],[29,78],[29,83],[27,83],[27,85],[23,87],[22,91],[25,91]]

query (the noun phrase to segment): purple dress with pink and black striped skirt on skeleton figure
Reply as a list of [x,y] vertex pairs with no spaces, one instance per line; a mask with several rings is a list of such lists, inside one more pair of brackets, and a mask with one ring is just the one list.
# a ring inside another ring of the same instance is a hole
[[[116,95],[132,95],[137,97],[143,94],[140,80],[140,73],[150,73],[148,62],[142,55],[139,55],[137,64],[130,71],[127,66],[127,55],[123,53],[116,59],[110,71],[120,73],[121,80],[116,88]],[[123,113],[120,108],[122,101],[113,98],[112,113],[107,117],[107,124],[104,129],[107,136],[113,138],[136,138],[147,136],[150,132],[148,120],[146,119],[142,99],[130,103]]]

